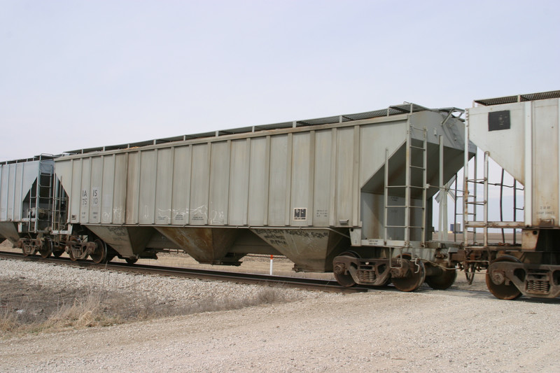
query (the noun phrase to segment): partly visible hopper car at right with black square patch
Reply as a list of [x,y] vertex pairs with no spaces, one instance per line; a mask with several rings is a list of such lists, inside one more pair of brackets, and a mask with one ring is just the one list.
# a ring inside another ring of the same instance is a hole
[[[467,128],[484,162],[478,173],[465,162],[463,210],[468,213],[463,249],[454,261],[467,269],[486,269],[486,285],[500,299],[559,297],[560,91],[477,100],[468,109]],[[497,183],[500,210],[510,195],[510,220],[489,218],[489,160],[514,179],[511,185]],[[483,185],[478,197],[476,185]],[[520,206],[516,192],[522,197]],[[513,239],[491,239],[492,230],[513,231]]]

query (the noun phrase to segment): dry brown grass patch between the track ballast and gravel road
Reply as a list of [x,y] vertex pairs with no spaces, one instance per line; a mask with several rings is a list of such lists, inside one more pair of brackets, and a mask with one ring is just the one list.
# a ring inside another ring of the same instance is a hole
[[241,309],[275,302],[289,302],[280,288],[263,287],[256,293],[223,299],[208,297],[193,302],[161,300],[149,294],[116,293],[105,288],[51,289],[25,278],[0,282],[0,335],[91,328],[167,316]]

